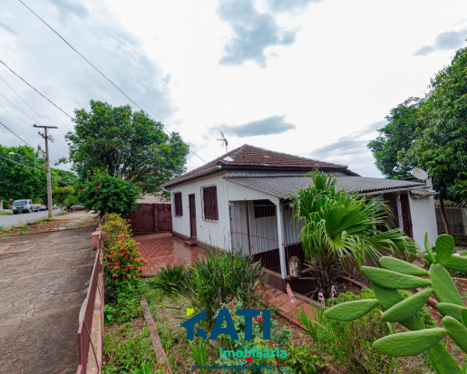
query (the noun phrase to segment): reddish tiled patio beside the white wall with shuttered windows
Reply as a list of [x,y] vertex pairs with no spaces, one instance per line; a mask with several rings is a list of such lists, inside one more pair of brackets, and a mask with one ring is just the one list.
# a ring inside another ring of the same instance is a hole
[[155,275],[168,264],[190,264],[201,255],[198,247],[188,247],[170,233],[141,235],[134,239],[141,243],[140,252],[148,262],[142,268],[142,274],[146,276]]

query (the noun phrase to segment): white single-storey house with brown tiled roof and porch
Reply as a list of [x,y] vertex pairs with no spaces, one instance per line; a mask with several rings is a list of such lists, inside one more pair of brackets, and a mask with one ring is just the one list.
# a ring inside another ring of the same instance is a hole
[[401,227],[423,248],[437,236],[430,183],[360,177],[345,165],[243,145],[163,185],[170,191],[173,234],[261,260],[282,279],[288,259],[300,254],[301,225],[292,221],[290,194],[309,186],[306,172],[318,169],[338,187],[388,202]]

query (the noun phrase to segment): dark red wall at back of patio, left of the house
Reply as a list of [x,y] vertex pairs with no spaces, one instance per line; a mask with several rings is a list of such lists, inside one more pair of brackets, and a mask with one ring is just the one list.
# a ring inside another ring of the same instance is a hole
[[151,234],[172,230],[170,203],[138,204],[138,210],[131,212],[128,218],[135,234]]

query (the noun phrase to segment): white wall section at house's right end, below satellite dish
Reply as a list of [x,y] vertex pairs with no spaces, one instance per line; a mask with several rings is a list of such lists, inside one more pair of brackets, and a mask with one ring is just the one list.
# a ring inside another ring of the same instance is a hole
[[413,240],[424,252],[425,233],[428,233],[428,241],[431,245],[434,245],[438,236],[434,199],[433,197],[414,198],[409,194],[409,206],[412,216]]

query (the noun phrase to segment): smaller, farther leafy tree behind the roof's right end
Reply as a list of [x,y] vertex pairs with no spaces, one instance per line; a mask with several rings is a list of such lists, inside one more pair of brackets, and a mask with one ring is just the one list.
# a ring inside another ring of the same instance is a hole
[[421,128],[419,108],[423,101],[409,98],[390,111],[387,125],[378,129],[380,135],[371,140],[367,147],[373,152],[376,167],[385,177],[400,179],[413,169],[413,163],[405,157]]

